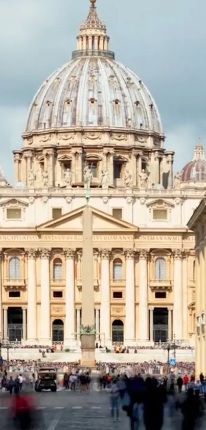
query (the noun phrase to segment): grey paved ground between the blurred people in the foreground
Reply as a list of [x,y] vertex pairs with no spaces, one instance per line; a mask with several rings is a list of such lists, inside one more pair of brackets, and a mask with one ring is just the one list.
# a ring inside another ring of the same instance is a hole
[[[35,393],[37,411],[41,414],[38,430],[129,430],[126,413],[120,410],[119,421],[110,417],[109,393],[106,392],[58,392]],[[8,393],[0,397],[0,416],[2,430],[8,429],[9,414]],[[165,408],[165,423],[163,430],[175,430],[181,427],[181,414],[177,413],[171,421]],[[202,426],[205,428],[205,419]],[[37,429],[36,429],[37,430]],[[144,426],[140,426],[144,430]]]

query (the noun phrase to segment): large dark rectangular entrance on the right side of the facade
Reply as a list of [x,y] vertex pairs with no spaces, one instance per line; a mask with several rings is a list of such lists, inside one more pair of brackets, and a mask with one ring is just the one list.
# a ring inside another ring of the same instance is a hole
[[168,340],[168,309],[154,308],[153,313],[153,339],[154,342],[167,342]]

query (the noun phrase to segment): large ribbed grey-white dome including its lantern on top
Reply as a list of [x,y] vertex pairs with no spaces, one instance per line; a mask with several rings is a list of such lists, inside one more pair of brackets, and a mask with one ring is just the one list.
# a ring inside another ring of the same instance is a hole
[[142,80],[115,61],[95,1],[77,36],[73,59],[43,82],[25,133],[71,127],[145,130],[163,135],[154,99]]

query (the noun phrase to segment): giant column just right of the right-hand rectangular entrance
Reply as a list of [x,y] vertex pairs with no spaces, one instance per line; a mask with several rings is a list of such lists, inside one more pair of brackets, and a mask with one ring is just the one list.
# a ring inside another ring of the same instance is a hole
[[182,339],[182,252],[174,250],[173,336]]

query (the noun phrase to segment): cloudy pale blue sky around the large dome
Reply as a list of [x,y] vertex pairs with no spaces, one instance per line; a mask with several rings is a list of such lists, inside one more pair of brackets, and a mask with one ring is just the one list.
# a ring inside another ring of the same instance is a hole
[[[71,58],[88,0],[1,0],[0,163],[13,180],[30,102],[42,81]],[[147,85],[161,113],[175,170],[206,145],[206,2],[97,0],[116,59]]]

